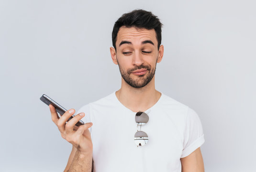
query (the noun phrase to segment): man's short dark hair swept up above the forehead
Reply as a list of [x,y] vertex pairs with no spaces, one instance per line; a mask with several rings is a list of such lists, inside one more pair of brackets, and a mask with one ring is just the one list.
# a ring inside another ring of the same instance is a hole
[[156,31],[156,39],[157,39],[157,48],[159,49],[162,36],[161,36],[161,27],[162,23],[160,20],[155,16],[152,12],[150,11],[145,11],[145,10],[134,10],[129,13],[123,14],[116,22],[113,27],[112,31],[112,44],[113,47],[116,49],[116,37],[119,29],[122,26],[125,27],[135,27],[135,28],[145,28],[145,29],[155,29]]

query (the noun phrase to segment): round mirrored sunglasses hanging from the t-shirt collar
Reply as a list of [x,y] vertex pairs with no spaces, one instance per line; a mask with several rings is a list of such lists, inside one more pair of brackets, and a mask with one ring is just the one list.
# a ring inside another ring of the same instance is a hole
[[[148,136],[144,131],[141,131],[141,126],[148,122],[148,115],[145,112],[137,112],[135,115],[135,122],[137,123],[137,132],[134,135],[134,141],[137,147],[147,144]],[[140,129],[139,129],[140,128]]]

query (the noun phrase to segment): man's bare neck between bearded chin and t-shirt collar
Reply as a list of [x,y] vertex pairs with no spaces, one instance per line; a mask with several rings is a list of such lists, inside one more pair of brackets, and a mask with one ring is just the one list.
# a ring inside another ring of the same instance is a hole
[[116,97],[123,106],[133,112],[144,112],[156,104],[161,97],[161,93],[155,88],[155,76],[142,88],[134,88],[128,85],[122,78],[122,86],[120,90],[116,91]]

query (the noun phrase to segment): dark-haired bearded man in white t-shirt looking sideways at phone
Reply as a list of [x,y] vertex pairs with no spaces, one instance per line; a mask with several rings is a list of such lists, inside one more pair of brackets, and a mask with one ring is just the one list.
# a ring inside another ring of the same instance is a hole
[[[121,89],[82,107],[67,124],[75,110],[58,119],[50,106],[61,136],[73,145],[65,171],[204,171],[204,136],[196,112],[155,89],[156,63],[164,53],[161,26],[148,11],[123,14],[115,22],[110,48],[122,75]],[[76,127],[80,119],[87,123]]]

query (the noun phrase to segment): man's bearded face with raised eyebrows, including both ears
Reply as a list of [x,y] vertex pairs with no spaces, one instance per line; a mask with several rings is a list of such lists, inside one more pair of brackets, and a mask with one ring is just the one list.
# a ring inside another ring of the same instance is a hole
[[162,59],[163,46],[160,46],[159,52],[154,29],[121,27],[117,34],[116,51],[113,51],[112,48],[112,60],[118,64],[123,80],[130,86],[140,88],[154,77],[156,63]]

